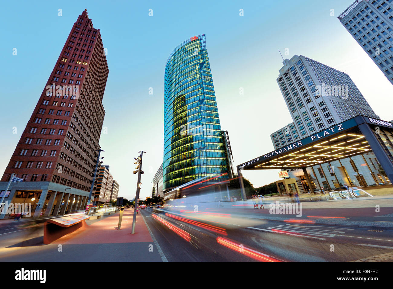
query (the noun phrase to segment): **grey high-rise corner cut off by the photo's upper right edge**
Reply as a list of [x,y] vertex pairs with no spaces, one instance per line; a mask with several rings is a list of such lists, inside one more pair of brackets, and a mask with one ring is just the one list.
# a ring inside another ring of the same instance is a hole
[[338,19],[393,84],[393,1],[357,0]]

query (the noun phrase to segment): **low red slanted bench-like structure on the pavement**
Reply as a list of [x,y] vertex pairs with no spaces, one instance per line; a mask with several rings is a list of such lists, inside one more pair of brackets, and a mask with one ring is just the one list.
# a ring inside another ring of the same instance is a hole
[[88,218],[90,217],[85,214],[72,214],[61,218],[48,219],[44,223],[44,244],[50,244],[80,228],[86,228],[85,221]]

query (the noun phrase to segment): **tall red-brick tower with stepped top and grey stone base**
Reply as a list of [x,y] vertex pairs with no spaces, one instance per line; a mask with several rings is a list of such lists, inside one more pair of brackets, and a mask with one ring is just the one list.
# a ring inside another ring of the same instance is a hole
[[48,81],[43,83],[37,105],[1,178],[2,190],[11,174],[23,180],[11,183],[6,201],[31,203],[35,215],[44,210],[46,216],[86,204],[96,150],[100,148],[108,72],[100,31],[84,10],[73,24]]

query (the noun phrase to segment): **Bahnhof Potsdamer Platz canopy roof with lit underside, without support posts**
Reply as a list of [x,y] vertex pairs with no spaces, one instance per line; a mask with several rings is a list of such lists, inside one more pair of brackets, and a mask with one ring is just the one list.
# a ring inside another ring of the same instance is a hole
[[[305,168],[371,151],[359,128],[367,124],[391,128],[392,123],[358,115],[237,166],[243,170]],[[364,130],[364,127],[363,127]]]

